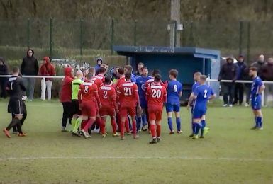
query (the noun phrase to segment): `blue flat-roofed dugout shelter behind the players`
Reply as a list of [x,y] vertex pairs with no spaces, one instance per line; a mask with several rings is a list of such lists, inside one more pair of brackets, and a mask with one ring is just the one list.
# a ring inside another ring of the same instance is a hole
[[[178,81],[183,84],[183,98],[186,100],[194,84],[193,74],[200,71],[210,79],[217,79],[220,70],[220,51],[198,47],[152,47],[152,46],[113,46],[119,55],[126,56],[128,64],[135,70],[143,62],[150,71],[159,69],[162,81],[169,78],[169,70],[179,71]],[[218,92],[218,84],[211,84]]]

